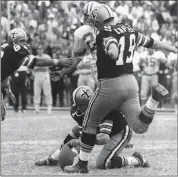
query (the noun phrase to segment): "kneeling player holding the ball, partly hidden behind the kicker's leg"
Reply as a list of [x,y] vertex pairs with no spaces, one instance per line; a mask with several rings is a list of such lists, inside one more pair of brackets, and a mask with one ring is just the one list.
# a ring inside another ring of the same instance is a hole
[[[50,156],[35,162],[38,166],[62,166],[64,159],[60,159],[60,153],[66,146],[70,147],[75,155],[79,153],[79,139],[82,131],[82,123],[85,111],[88,107],[89,99],[93,91],[90,87],[80,86],[73,92],[74,105],[70,113],[78,125],[74,126],[72,131],[66,136],[60,148],[57,148]],[[96,166],[99,169],[121,168],[125,166],[149,167],[148,162],[138,152],[134,152],[131,157],[121,157],[119,154],[126,148],[132,138],[132,131],[128,127],[126,120],[118,109],[111,111],[97,127],[97,145],[104,145],[97,160]],[[63,154],[67,159],[68,154]],[[74,156],[75,157],[75,156]]]

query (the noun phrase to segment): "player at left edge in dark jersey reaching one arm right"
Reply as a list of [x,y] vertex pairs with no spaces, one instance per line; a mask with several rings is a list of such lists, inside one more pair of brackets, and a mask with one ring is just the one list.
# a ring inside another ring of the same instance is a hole
[[[25,31],[20,28],[12,29],[8,37],[8,43],[1,46],[1,83],[7,83],[8,77],[21,65],[29,68],[53,65],[69,66],[72,62],[70,59],[51,60],[30,55],[28,50],[29,45],[26,43],[27,35]],[[3,85],[7,84],[2,84],[2,86]],[[3,99],[1,98],[1,102],[2,101]],[[1,105],[4,105],[4,103]],[[5,108],[3,108],[3,110],[5,110]],[[3,116],[2,120],[4,119],[5,117]]]

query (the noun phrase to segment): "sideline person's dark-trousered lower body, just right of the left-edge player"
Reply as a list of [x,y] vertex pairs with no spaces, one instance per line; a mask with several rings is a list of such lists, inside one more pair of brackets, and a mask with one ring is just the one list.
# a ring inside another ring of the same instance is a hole
[[21,111],[25,112],[27,106],[27,90],[26,90],[26,78],[29,73],[26,66],[21,66],[15,73],[12,75],[11,80],[11,89],[16,98],[16,103],[14,104],[14,111],[19,111],[19,97],[21,96]]

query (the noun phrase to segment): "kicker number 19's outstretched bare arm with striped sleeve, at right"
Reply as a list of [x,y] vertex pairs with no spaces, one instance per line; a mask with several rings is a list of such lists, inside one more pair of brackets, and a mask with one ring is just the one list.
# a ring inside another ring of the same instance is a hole
[[177,48],[137,32],[137,46],[177,53]]

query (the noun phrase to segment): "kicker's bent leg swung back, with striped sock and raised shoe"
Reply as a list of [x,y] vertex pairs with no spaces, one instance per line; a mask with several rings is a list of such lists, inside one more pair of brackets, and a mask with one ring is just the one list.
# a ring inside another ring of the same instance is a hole
[[119,110],[125,116],[129,127],[135,133],[145,133],[151,124],[155,115],[161,96],[167,94],[167,90],[160,84],[152,87],[152,96],[148,99],[146,105],[141,110],[139,105],[138,85],[134,79],[130,80],[130,93],[128,99],[119,106]]

